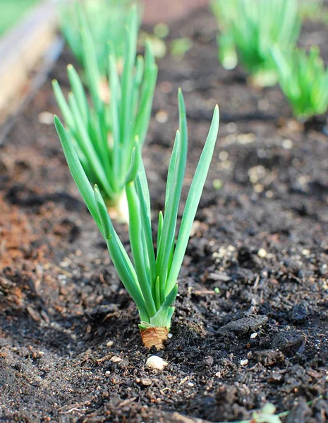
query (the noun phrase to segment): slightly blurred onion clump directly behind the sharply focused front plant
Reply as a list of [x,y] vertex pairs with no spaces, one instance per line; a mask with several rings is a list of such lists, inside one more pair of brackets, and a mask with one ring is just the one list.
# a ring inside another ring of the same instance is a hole
[[157,65],[146,44],[145,59],[136,56],[138,12],[130,11],[126,28],[126,51],[119,75],[116,55],[109,45],[109,103],[99,93],[99,68],[95,46],[87,25],[83,27],[85,72],[90,91],[87,100],[83,84],[73,66],[68,65],[71,92],[66,101],[59,83],[54,94],[63,114],[75,151],[90,183],[97,183],[106,204],[114,205],[126,220],[124,189],[131,154],[138,137],[145,141],[150,121]]

